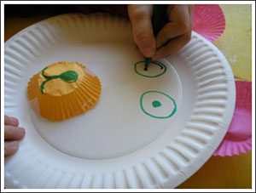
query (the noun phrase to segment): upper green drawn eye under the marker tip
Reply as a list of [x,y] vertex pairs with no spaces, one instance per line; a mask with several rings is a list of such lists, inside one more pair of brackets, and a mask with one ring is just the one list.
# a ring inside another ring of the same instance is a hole
[[159,61],[152,61],[152,64],[150,64],[150,67],[148,67],[148,70],[145,71],[145,62],[144,61],[138,61],[134,65],[134,70],[138,75],[141,75],[143,77],[160,77],[161,75],[166,73],[166,65]]

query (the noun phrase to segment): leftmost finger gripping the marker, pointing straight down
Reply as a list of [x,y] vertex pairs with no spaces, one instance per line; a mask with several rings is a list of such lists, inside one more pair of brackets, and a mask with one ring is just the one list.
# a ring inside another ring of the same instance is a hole
[[156,50],[152,28],[153,5],[128,5],[133,37],[145,57],[151,58]]

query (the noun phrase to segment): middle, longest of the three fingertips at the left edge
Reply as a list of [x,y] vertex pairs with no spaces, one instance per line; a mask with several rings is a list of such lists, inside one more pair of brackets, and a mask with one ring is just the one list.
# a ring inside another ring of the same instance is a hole
[[4,126],[4,139],[18,140],[25,136],[25,129],[11,125]]

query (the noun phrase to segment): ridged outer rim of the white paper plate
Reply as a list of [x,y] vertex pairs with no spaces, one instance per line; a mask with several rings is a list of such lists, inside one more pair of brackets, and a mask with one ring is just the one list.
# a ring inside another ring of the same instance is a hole
[[[55,29],[50,26],[51,22],[62,29],[65,25],[75,28],[86,24],[95,32],[116,27],[119,31],[126,31],[127,37],[132,38],[129,21],[108,14],[64,14],[20,31],[5,43],[6,111],[13,108],[9,107],[9,101],[15,89],[14,78],[20,78],[20,69],[26,67],[19,60],[26,59],[26,56],[32,57],[27,47],[44,43],[42,38],[52,38],[55,43],[58,42]],[[126,35],[124,32],[124,36]],[[19,42],[19,38],[25,38],[26,42]],[[15,48],[19,54],[16,52],[15,55],[10,55],[10,48]],[[131,154],[106,160],[84,160],[55,150],[40,138],[37,131],[32,130],[30,133],[33,137],[27,136],[30,143],[21,142],[20,150],[15,156],[5,159],[5,186],[174,188],[188,179],[207,162],[224,138],[235,108],[236,89],[230,65],[223,54],[195,32],[191,42],[178,54],[188,62],[198,86],[198,95],[189,122],[169,145],[161,147],[153,155],[150,150],[150,155],[143,157],[138,150],[138,156]],[[35,141],[37,144],[33,145]]]

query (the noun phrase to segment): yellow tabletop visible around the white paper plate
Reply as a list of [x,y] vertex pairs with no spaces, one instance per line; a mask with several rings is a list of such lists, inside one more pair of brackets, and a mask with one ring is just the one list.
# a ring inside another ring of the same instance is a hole
[[[252,81],[252,6],[220,5],[224,11],[226,29],[212,43],[229,61],[236,80]],[[4,22],[4,41],[18,31],[52,15],[31,18],[9,17]],[[236,20],[234,20],[236,18]],[[252,151],[240,156],[212,156],[178,189],[251,189]]]

